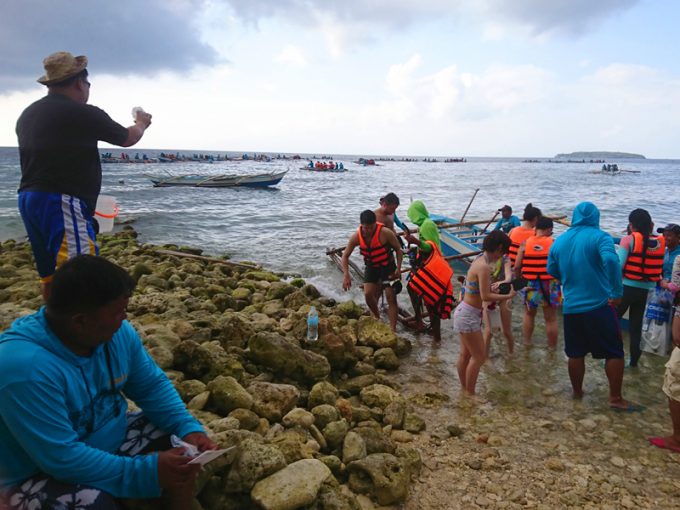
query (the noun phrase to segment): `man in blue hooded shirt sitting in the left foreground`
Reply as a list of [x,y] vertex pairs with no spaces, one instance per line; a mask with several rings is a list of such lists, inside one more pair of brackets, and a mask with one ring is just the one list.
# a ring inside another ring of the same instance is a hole
[[[200,466],[169,434],[217,447],[125,320],[134,280],[80,255],[56,272],[46,306],[0,335],[0,502],[117,509],[117,498],[189,508]],[[142,413],[127,413],[126,397]],[[152,450],[164,450],[149,453]],[[2,503],[0,503],[2,507]]]

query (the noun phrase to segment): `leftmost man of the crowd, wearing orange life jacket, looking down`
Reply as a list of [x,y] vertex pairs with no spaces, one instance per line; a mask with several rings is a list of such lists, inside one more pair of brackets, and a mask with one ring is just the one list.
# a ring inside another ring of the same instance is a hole
[[[397,294],[395,289],[389,285],[389,280],[401,280],[401,260],[403,254],[396,234],[389,228],[385,228],[382,223],[376,222],[375,213],[367,209],[359,216],[359,228],[349,238],[347,247],[342,254],[342,272],[344,278],[342,288],[349,290],[352,286],[352,277],[349,274],[349,257],[354,248],[359,246],[361,255],[364,257],[366,271],[364,275],[364,297],[366,304],[371,310],[371,314],[376,319],[380,318],[378,309],[378,299],[385,290],[387,298],[387,314],[390,318],[390,328],[392,331],[397,329]],[[397,262],[394,262],[394,255],[397,254]]]

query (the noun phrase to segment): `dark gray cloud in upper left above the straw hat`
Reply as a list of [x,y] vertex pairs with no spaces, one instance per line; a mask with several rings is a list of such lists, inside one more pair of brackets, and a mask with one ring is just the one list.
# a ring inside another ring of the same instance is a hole
[[0,93],[26,88],[54,51],[87,55],[91,72],[185,72],[218,61],[192,19],[202,0],[7,0]]

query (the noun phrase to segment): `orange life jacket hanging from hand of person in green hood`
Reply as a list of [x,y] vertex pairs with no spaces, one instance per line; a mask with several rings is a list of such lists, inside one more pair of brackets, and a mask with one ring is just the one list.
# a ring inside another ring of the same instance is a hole
[[432,241],[432,247],[423,264],[418,267],[408,281],[408,288],[423,298],[425,305],[434,309],[442,319],[448,319],[453,310],[453,269],[444,260],[441,251]]

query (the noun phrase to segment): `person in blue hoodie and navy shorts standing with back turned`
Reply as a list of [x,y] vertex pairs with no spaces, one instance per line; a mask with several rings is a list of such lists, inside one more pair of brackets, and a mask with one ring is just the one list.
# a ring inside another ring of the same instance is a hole
[[637,410],[621,395],[623,340],[615,305],[623,295],[621,266],[612,237],[600,230],[600,211],[591,202],[574,209],[571,227],[553,243],[548,273],[562,282],[564,350],[575,398],[583,397],[585,356],[605,359],[609,406]]

